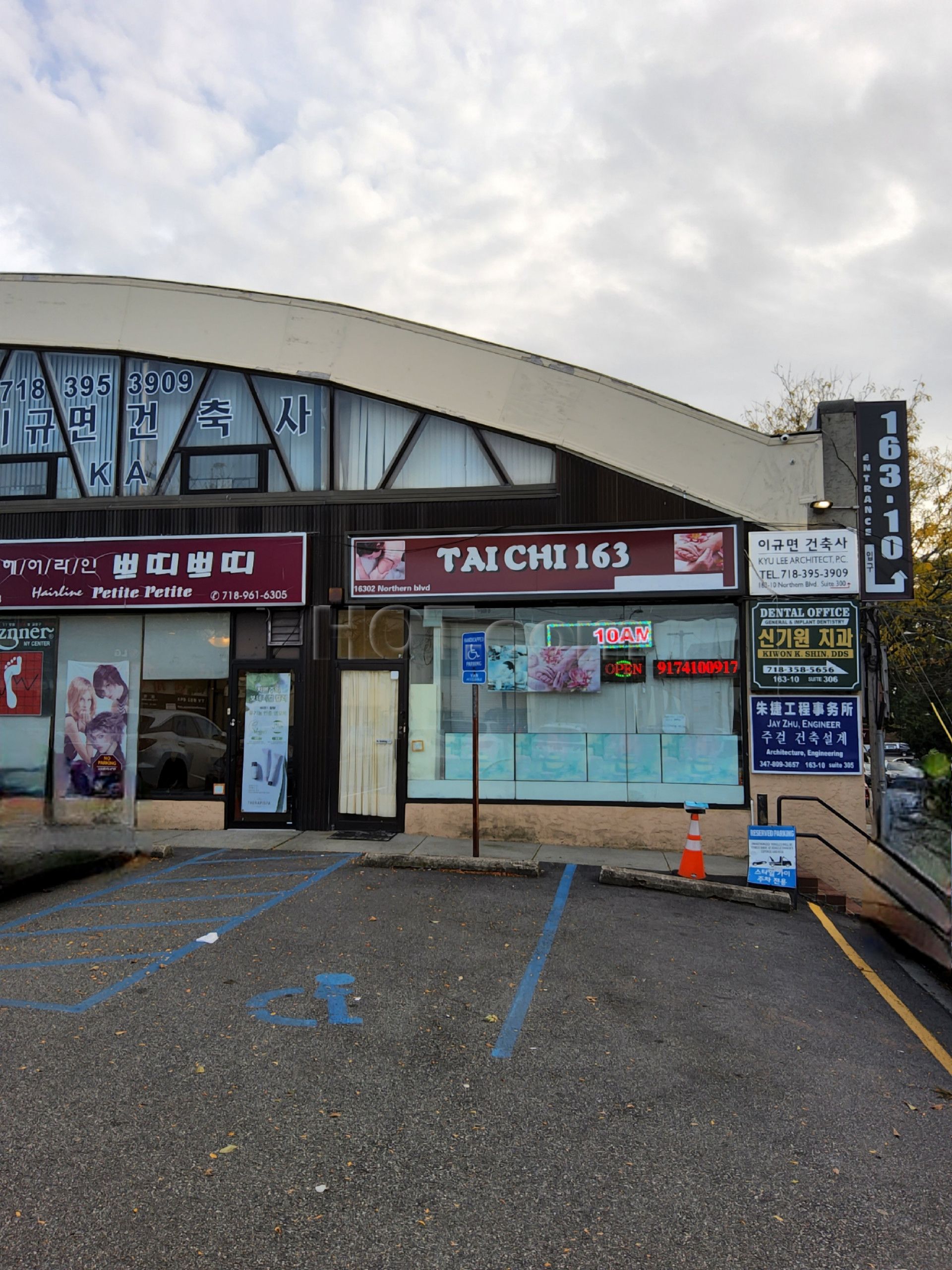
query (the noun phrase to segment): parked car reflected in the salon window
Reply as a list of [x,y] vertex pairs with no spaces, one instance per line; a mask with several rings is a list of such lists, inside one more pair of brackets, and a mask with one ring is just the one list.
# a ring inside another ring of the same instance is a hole
[[208,790],[225,780],[226,737],[203,715],[143,710],[138,723],[138,781],[150,790]]

